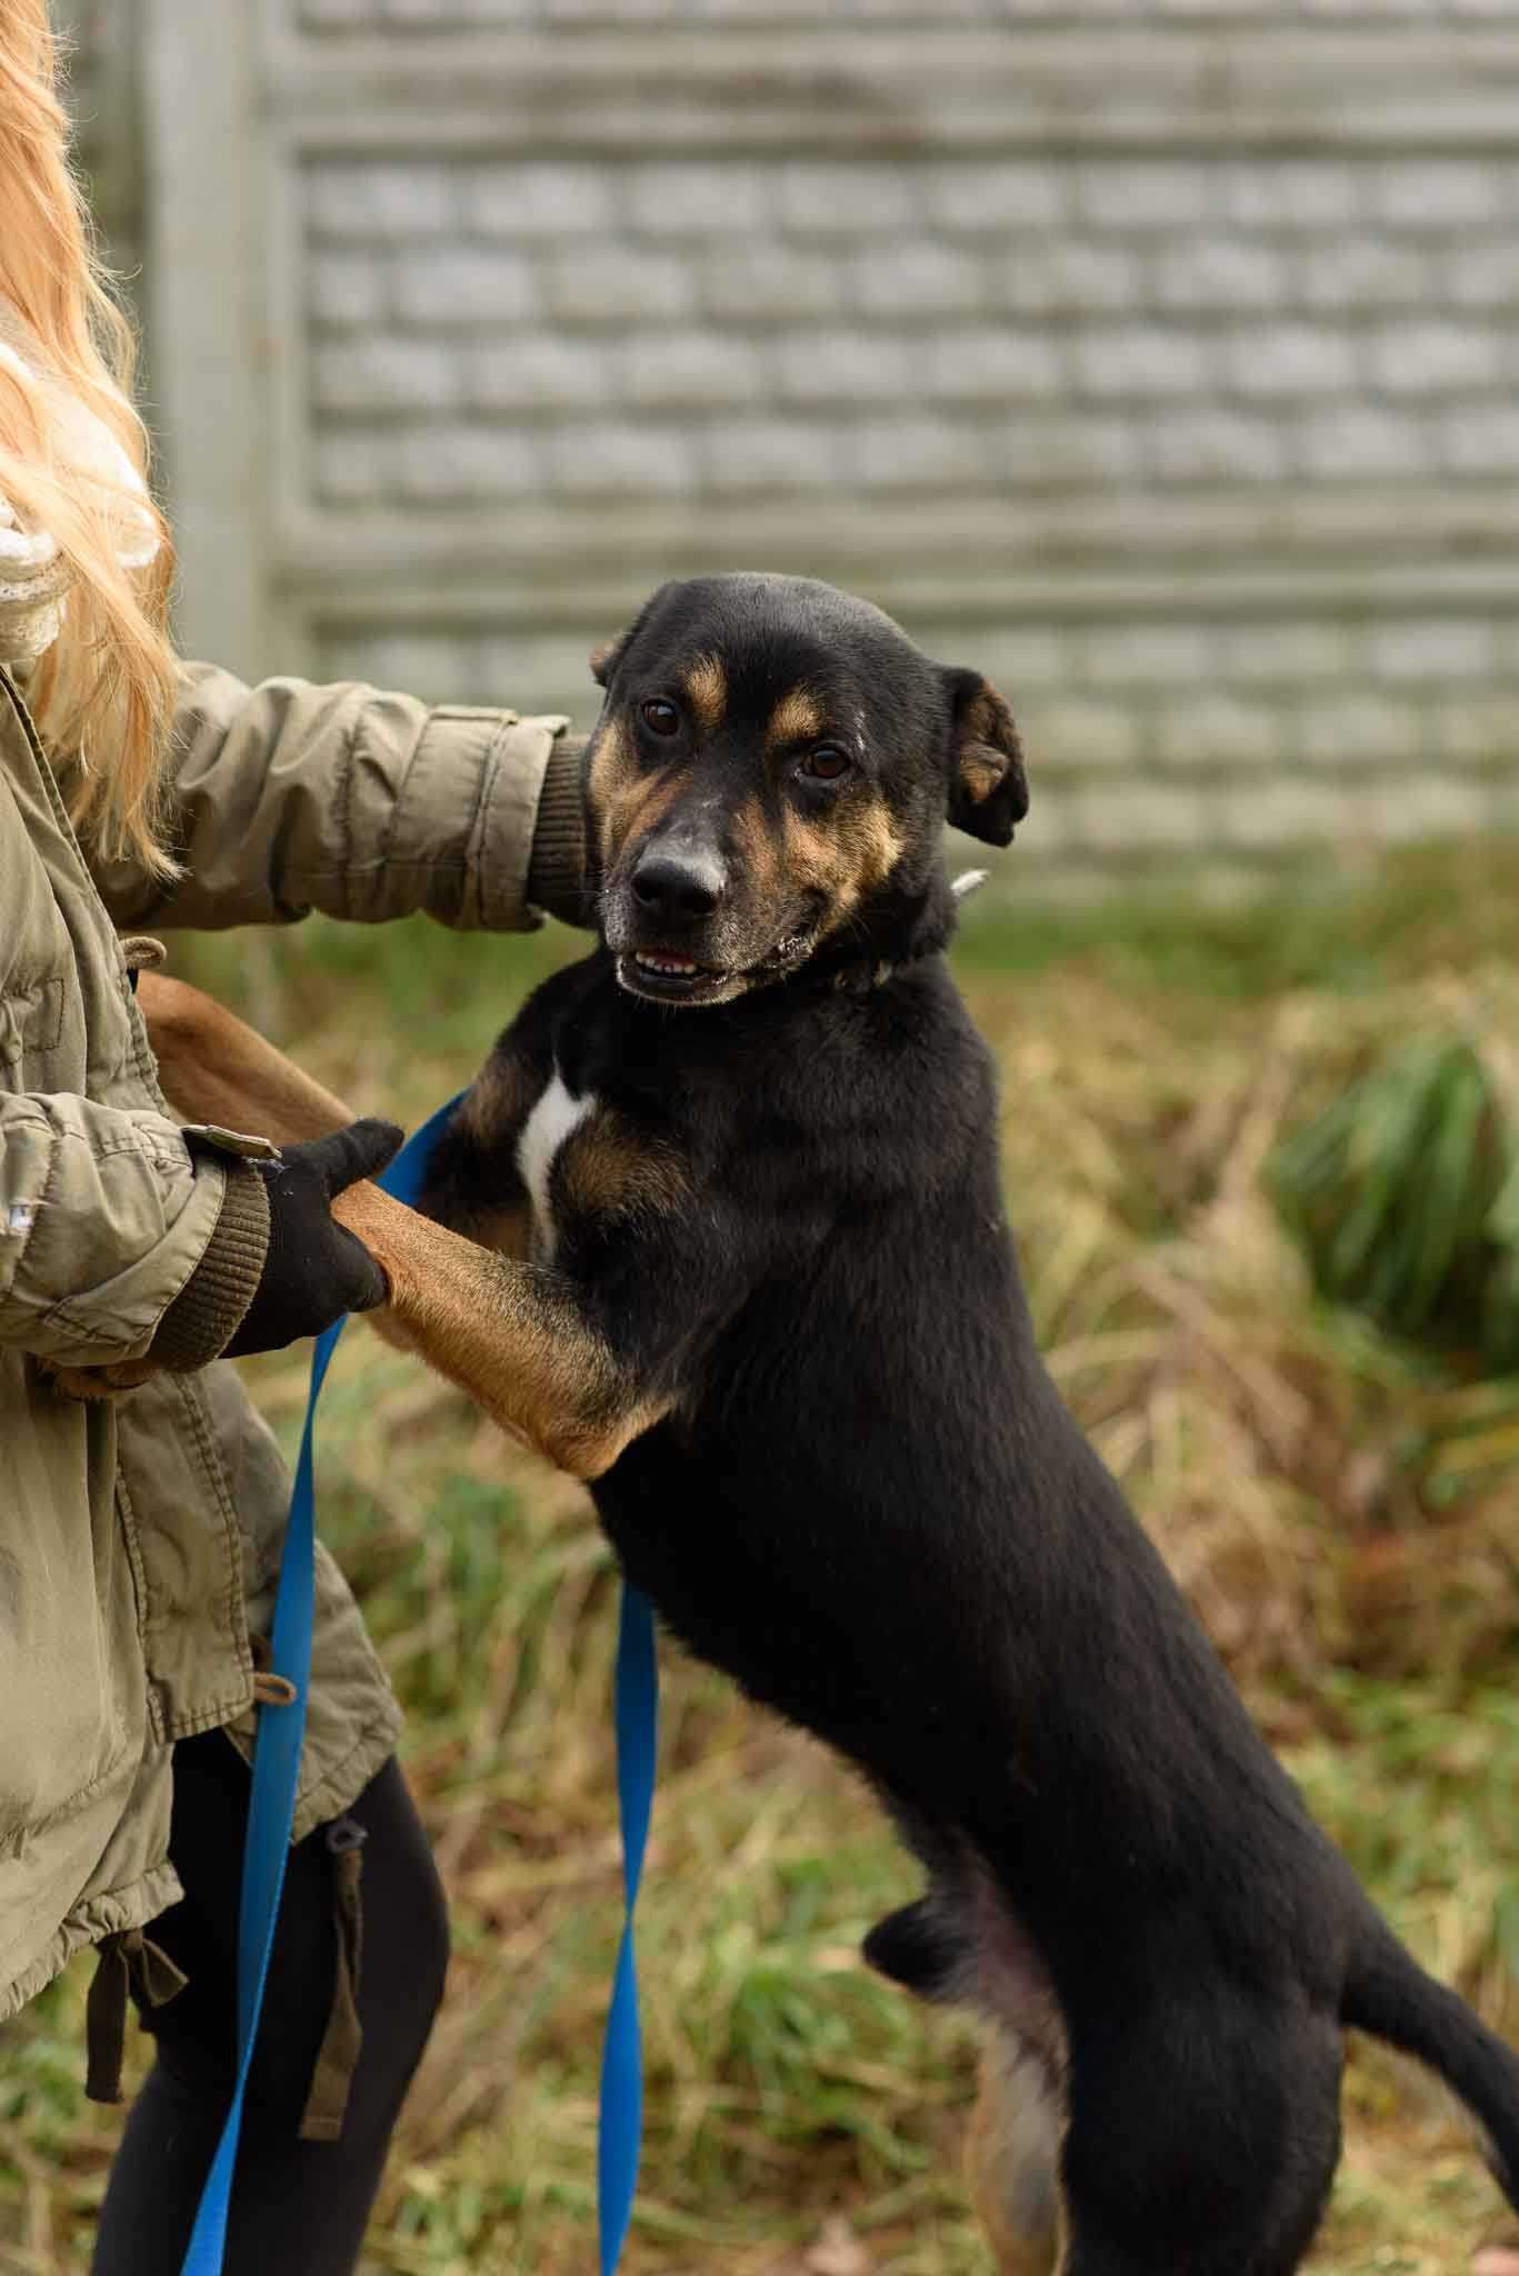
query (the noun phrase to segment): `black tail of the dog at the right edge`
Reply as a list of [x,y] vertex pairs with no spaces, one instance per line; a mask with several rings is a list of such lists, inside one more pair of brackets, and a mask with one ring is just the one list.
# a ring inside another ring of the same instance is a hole
[[1519,2210],[1519,2055],[1455,1991],[1426,1976],[1376,1914],[1350,1960],[1339,2012],[1455,2089],[1483,2124],[1494,2178]]

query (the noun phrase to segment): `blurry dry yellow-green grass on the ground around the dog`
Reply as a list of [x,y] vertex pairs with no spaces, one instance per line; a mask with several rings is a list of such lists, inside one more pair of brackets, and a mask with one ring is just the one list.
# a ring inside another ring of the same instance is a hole
[[[1485,1067],[1512,1045],[1503,865],[1426,856],[1350,899],[1227,913],[975,915],[961,976],[1002,1063],[1011,1211],[1061,1388],[1398,1930],[1517,2035],[1519,1382],[1480,1343],[1353,1304],[1364,1286],[1325,1281],[1275,1199],[1325,1115],[1341,1168],[1355,1156],[1344,1099],[1410,1036]],[[417,1120],[565,954],[565,933],[312,924],[196,942],[175,967],[355,1108]],[[251,1375],[292,1438],[303,1359]],[[364,1334],[328,1395],[321,1525],[405,1700],[455,1916],[369,2267],[569,2276],[592,2265],[619,1925],[613,1573],[578,1489]],[[956,2174],[972,2035],[856,1960],[911,1866],[847,1773],[674,1655],[644,1887],[631,2276],[984,2271]],[[84,1973],[7,2035],[2,2276],[87,2265],[116,2119],[80,2098]],[[1316,2276],[1462,2269],[1499,2199],[1439,2096],[1357,2051],[1346,2121]]]

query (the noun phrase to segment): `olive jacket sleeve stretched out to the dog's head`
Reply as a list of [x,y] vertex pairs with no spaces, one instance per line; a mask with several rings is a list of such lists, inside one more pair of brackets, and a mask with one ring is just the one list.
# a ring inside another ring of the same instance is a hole
[[118,924],[376,924],[424,910],[460,931],[581,922],[581,742],[563,719],[428,708],[362,683],[317,687],[187,665],[164,888],[98,874]]

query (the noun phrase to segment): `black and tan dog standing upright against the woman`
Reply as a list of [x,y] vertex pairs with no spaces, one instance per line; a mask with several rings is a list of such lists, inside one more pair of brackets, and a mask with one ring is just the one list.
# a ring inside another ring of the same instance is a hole
[[[1519,2062],[1371,1910],[1041,1366],[945,817],[1025,810],[1007,703],[793,578],[667,585],[597,660],[601,945],[496,1045],[424,1222],[339,1213],[392,1318],[588,1479],[704,1659],[879,1791],[927,1894],[870,1960],[993,2026],[1004,2271],[1287,2276],[1341,2035],[1437,2069],[1519,2180]],[[143,983],[171,1097],[344,1111]]]

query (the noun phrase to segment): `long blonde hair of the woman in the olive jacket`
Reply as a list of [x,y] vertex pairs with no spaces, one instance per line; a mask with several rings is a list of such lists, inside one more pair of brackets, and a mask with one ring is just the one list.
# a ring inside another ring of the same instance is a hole
[[[109,294],[68,166],[46,0],[0,0],[0,298],[27,335],[23,364],[0,357],[0,498],[25,528],[50,533],[68,578],[64,624],[27,701],[59,753],[71,815],[91,849],[171,874],[162,760],[175,699],[173,549],[157,508],[102,476],[82,435],[80,410],[146,480],[132,328]],[[123,510],[157,535],[146,564],[121,560]]]

